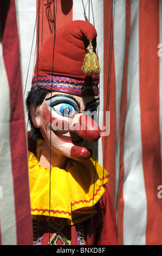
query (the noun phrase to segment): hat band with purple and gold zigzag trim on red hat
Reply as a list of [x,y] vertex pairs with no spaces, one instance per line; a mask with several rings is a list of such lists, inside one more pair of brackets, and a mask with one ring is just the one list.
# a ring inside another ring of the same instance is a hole
[[76,80],[69,77],[60,76],[37,76],[32,80],[31,90],[41,87],[53,92],[62,92],[69,94],[99,94],[99,79],[91,81]]

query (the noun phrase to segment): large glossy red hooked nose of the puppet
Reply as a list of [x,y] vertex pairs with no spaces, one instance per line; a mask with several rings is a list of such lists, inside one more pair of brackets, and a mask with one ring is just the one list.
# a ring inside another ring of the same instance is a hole
[[96,142],[100,138],[100,127],[86,114],[77,114],[70,124],[70,131],[77,133],[88,142]]

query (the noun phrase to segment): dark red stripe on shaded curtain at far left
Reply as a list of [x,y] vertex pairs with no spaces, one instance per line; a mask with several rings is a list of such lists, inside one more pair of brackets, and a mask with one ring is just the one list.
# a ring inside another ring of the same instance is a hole
[[[10,89],[10,148],[14,180],[17,245],[32,245],[33,231],[30,214],[27,143],[15,1],[5,1],[1,11],[3,57]],[[7,210],[4,209],[4,214],[7,213]]]

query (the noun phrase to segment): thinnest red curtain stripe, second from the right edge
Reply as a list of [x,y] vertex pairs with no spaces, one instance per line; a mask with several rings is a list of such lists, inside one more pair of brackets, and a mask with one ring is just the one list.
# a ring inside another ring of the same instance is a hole
[[126,0],[126,39],[125,39],[125,61],[121,92],[121,107],[120,107],[120,174],[118,187],[118,232],[119,245],[123,245],[123,221],[124,221],[124,197],[123,197],[123,183],[124,183],[124,141],[125,141],[125,119],[127,111],[127,71],[128,71],[128,53],[129,53],[129,36],[131,32],[131,1]]

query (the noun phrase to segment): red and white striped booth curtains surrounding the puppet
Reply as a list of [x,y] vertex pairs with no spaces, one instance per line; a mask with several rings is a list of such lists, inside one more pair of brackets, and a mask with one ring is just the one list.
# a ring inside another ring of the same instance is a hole
[[32,244],[23,102],[36,31],[41,47],[54,20],[56,29],[87,20],[98,32],[100,124],[110,112],[98,160],[110,173],[119,245],[162,245],[162,1],[8,0],[0,7],[1,244]]

